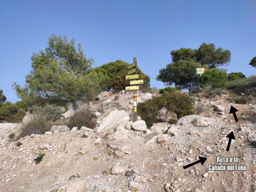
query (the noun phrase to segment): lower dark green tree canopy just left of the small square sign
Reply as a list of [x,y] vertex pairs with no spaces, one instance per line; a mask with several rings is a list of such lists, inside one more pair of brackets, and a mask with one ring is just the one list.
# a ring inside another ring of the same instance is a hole
[[175,87],[191,92],[199,85],[196,68],[200,67],[208,68],[207,65],[201,66],[201,63],[195,60],[178,60],[160,69],[156,80],[164,82],[166,86],[175,84]]

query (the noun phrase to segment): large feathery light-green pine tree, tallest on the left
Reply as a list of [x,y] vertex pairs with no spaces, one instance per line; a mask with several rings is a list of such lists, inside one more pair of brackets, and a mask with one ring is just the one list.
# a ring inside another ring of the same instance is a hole
[[45,51],[33,53],[31,60],[32,70],[26,76],[25,87],[13,84],[17,96],[34,103],[71,102],[75,109],[76,102],[87,93],[85,74],[93,63],[92,58],[86,58],[81,44],[77,51],[74,39],[52,35]]

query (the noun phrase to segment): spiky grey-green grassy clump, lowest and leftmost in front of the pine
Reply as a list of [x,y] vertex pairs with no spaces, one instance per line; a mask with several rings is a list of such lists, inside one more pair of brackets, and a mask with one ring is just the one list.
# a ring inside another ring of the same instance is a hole
[[51,127],[52,122],[44,116],[42,111],[37,111],[30,121],[21,126],[21,131],[17,139],[32,134],[44,134],[46,131],[49,131]]

